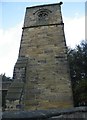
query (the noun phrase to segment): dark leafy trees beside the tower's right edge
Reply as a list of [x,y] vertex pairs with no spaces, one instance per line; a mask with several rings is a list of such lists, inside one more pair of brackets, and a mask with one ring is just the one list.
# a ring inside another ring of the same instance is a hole
[[75,106],[87,105],[87,41],[68,49],[68,60]]

